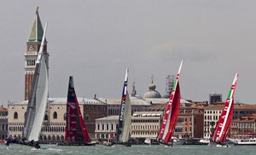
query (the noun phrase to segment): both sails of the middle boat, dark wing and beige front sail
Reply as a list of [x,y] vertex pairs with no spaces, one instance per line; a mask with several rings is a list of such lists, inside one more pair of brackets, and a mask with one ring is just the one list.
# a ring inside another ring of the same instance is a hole
[[125,83],[119,111],[119,125],[116,133],[116,140],[127,142],[130,138],[131,128],[131,101],[127,91],[128,69],[125,72]]

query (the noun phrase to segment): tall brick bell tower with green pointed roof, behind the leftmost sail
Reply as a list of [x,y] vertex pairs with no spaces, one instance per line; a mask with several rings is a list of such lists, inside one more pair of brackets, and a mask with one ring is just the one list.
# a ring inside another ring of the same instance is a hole
[[[26,41],[26,53],[25,53],[25,100],[29,99],[30,91],[32,89],[32,80],[34,77],[34,71],[36,68],[36,60],[38,58],[38,51],[42,42],[44,29],[38,14],[38,7],[36,9],[35,20],[32,25],[32,29]],[[47,41],[44,43],[44,58],[46,61],[47,70],[49,73],[49,53],[47,52]],[[49,75],[49,74],[48,74]]]

